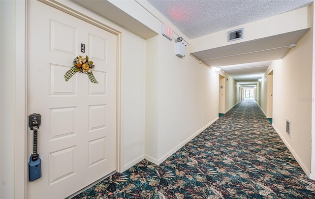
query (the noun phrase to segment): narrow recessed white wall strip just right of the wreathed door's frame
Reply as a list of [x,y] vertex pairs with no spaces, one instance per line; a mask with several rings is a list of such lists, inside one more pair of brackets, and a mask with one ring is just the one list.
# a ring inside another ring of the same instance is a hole
[[124,31],[124,170],[144,159],[146,41]]

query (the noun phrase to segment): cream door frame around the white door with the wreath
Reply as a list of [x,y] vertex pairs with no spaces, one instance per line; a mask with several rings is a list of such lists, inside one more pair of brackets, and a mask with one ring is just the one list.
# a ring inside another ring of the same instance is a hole
[[[27,50],[27,34],[28,34],[28,1],[16,0],[15,12],[15,140],[14,140],[14,198],[26,198],[27,196],[27,113],[28,113],[28,50]],[[104,24],[98,18],[93,18],[93,13],[79,12],[72,9],[73,2],[55,1],[55,0],[39,0],[58,10],[70,14],[80,20],[102,28],[117,36],[117,65],[116,65],[116,171],[123,170],[123,144],[122,144],[122,32]],[[70,5],[69,5],[70,4]],[[69,6],[68,6],[69,5]],[[87,14],[86,14],[87,13]],[[105,21],[105,20],[104,20]],[[24,114],[21,114],[24,113]],[[19,139],[17,139],[19,138]],[[23,179],[23,180],[22,180]],[[24,190],[24,191],[22,191]]]

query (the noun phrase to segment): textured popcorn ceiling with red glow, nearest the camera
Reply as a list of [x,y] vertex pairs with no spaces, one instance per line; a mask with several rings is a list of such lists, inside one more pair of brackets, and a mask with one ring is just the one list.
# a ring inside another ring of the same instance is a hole
[[314,0],[148,0],[189,39],[304,7]]

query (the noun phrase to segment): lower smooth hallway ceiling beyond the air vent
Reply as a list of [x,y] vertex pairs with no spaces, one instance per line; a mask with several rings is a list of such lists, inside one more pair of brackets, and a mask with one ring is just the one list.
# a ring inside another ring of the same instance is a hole
[[[221,67],[236,82],[257,82],[272,60],[282,59],[290,50],[287,46],[296,44],[308,30],[309,28],[287,32],[200,51],[192,53],[192,55],[201,60],[205,59],[203,62],[212,67]],[[259,67],[257,63],[259,63]],[[230,68],[230,65],[233,65],[233,69]]]

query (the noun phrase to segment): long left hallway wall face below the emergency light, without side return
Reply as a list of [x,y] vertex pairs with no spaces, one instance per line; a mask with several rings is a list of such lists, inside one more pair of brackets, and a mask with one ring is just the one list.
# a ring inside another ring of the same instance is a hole
[[174,54],[175,42],[160,40],[158,163],[218,118],[219,74],[188,55]]

